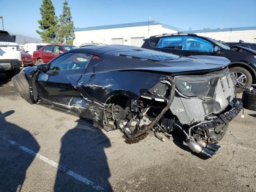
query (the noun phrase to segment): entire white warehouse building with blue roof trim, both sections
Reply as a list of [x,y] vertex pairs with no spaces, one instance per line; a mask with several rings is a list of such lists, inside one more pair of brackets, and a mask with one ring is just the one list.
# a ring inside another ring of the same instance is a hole
[[121,44],[140,47],[143,39],[177,32],[195,33],[225,42],[256,42],[256,26],[185,31],[156,21],[76,28],[74,45],[84,43]]

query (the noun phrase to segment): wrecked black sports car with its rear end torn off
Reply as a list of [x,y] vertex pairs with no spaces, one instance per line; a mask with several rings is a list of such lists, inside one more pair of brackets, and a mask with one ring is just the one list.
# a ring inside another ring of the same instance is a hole
[[85,118],[128,138],[175,129],[201,158],[212,157],[241,110],[230,61],[185,58],[133,46],[90,46],[24,68],[12,82],[33,104]]

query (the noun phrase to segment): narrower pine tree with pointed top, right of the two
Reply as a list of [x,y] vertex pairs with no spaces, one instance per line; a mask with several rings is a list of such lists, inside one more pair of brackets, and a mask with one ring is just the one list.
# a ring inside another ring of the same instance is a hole
[[57,41],[59,43],[73,44],[75,38],[74,35],[74,23],[72,21],[72,16],[70,12],[70,7],[68,6],[68,1],[65,0],[63,3],[63,11],[60,15],[60,24],[58,26],[58,37]]

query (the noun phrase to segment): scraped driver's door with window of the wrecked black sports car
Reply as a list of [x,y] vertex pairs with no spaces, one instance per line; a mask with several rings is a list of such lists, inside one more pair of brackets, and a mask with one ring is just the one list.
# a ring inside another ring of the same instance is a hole
[[74,108],[82,99],[76,90],[76,83],[86,72],[91,57],[92,55],[86,53],[66,53],[49,63],[46,72],[38,72],[36,77],[38,103],[62,111]]

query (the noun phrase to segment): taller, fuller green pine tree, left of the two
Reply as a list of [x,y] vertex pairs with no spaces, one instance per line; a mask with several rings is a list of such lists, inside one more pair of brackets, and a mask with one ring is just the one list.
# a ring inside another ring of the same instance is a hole
[[40,7],[42,20],[39,20],[39,30],[36,30],[40,34],[43,42],[54,42],[56,38],[56,28],[58,24],[57,16],[55,16],[55,9],[51,0],[43,0]]

